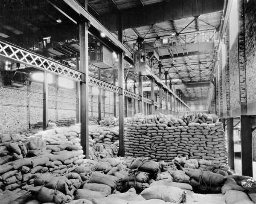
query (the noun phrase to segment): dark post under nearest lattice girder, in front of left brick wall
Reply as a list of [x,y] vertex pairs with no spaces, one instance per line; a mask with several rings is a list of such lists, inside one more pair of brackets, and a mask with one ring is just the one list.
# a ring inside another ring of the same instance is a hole
[[43,130],[46,130],[48,124],[48,81],[47,72],[44,71],[43,82]]

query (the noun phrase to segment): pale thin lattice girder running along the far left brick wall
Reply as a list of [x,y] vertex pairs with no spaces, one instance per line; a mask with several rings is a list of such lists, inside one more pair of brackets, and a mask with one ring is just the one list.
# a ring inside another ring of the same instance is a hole
[[[36,93],[36,92],[28,92],[18,89],[9,89],[5,87],[0,87],[0,94],[4,95],[12,95],[17,97],[28,97],[28,98],[36,98],[36,99],[43,99],[43,94]],[[76,99],[74,98],[65,98],[61,96],[55,96],[55,95],[48,95],[49,101],[58,101],[58,102],[65,102],[65,103],[76,103]]]

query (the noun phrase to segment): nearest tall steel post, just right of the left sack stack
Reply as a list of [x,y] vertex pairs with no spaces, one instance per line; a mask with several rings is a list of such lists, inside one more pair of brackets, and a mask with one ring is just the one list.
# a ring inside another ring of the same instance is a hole
[[[87,10],[87,0],[85,0],[84,8]],[[88,22],[83,19],[79,26],[80,36],[80,66],[82,72],[84,72],[84,83],[81,84],[81,146],[86,155],[86,159],[89,159],[89,56],[88,56]]]

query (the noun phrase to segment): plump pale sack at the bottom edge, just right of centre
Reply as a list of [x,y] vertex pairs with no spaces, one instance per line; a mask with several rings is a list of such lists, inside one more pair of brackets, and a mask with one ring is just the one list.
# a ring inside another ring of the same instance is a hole
[[176,204],[180,204],[181,201],[184,200],[186,194],[183,190],[177,187],[170,187],[170,186],[153,186],[149,187],[140,195],[145,198],[146,200],[149,199],[162,199],[166,202],[172,202]]

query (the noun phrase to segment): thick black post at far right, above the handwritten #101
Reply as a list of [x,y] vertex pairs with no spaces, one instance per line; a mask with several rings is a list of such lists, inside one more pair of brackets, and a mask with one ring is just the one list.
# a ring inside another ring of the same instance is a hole
[[251,116],[241,115],[242,175],[253,177],[253,145]]

